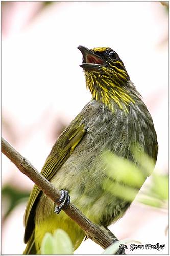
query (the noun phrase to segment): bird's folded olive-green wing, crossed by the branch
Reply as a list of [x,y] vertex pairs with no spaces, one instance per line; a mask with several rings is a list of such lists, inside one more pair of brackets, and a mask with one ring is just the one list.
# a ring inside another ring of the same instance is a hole
[[[75,147],[84,137],[86,131],[83,125],[80,125],[81,117],[78,115],[59,136],[58,140],[54,144],[49,156],[47,157],[45,164],[41,170],[41,174],[47,180],[50,180],[57,170],[61,168],[64,162],[72,154]],[[31,192],[27,208],[25,211],[24,224],[25,224],[25,243],[28,242],[34,231],[35,223],[35,209],[40,198],[41,190],[37,185],[34,185]]]

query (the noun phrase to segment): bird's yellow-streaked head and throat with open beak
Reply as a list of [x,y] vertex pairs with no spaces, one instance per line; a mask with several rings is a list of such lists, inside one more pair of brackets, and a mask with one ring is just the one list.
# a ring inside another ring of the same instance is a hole
[[121,109],[127,110],[127,105],[134,103],[131,97],[129,75],[118,54],[109,47],[88,49],[78,46],[83,55],[80,65],[85,71],[86,86],[92,98],[102,101],[111,108],[111,102],[116,102]]

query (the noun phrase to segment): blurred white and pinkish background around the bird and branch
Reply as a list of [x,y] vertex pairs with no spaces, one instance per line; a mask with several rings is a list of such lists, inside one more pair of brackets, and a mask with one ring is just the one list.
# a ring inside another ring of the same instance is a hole
[[[167,176],[168,3],[7,1],[1,8],[2,136],[41,170],[59,134],[91,98],[77,46],[109,46],[153,117],[159,144],[154,173]],[[25,248],[23,214],[32,187],[2,154],[2,254]],[[119,239],[166,244],[162,251],[127,254],[168,254],[167,226],[167,205],[135,200],[110,229]],[[75,254],[102,251],[88,239]]]

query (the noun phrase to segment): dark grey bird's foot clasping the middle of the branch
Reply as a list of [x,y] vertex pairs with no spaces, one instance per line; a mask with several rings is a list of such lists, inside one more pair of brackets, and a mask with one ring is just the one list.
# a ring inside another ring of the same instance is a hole
[[58,200],[58,202],[60,203],[60,205],[56,205],[56,207],[54,208],[54,212],[55,214],[59,214],[60,211],[62,209],[66,209],[67,206],[70,204],[70,196],[68,194],[68,191],[66,190],[60,190],[60,199]]

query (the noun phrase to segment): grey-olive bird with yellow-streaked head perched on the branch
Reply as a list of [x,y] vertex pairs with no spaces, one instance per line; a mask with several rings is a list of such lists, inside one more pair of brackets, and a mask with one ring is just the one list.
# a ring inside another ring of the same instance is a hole
[[[68,192],[72,204],[87,218],[107,228],[123,216],[131,202],[104,188],[103,182],[109,177],[103,152],[137,165],[131,148],[139,145],[156,162],[157,135],[152,117],[118,54],[109,47],[78,49],[83,54],[80,66],[92,99],[59,136],[41,174],[63,190],[61,195],[66,196],[67,203]],[[44,234],[57,228],[65,230],[74,249],[78,248],[85,233],[64,211],[60,212],[61,208],[34,186],[25,212],[24,254],[40,254]]]

